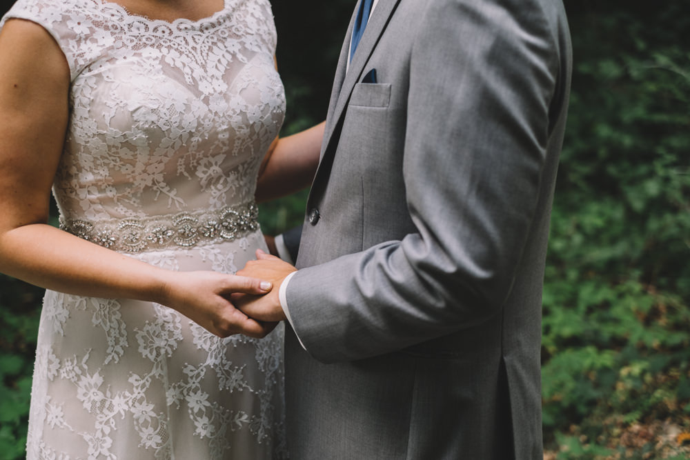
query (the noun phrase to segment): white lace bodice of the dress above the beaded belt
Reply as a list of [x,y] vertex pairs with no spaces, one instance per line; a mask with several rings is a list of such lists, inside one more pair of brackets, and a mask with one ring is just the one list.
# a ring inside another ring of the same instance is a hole
[[284,117],[268,0],[199,21],[101,0],[19,0],[70,66],[54,194],[64,219],[143,218],[246,203]]

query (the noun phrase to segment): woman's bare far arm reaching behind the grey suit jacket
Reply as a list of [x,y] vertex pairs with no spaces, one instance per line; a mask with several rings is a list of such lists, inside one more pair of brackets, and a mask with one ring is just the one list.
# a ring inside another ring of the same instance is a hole
[[259,169],[255,194],[257,201],[283,197],[311,185],[319,166],[325,124],[319,123],[308,130],[273,141]]

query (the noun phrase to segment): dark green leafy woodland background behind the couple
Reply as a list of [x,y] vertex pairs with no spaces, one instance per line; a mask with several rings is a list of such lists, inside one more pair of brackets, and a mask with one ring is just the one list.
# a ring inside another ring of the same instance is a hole
[[[555,1],[555,0],[554,0]],[[321,121],[355,0],[273,0],[284,134]],[[566,0],[575,66],[544,288],[547,459],[690,458],[690,2]],[[262,206],[266,232],[305,193]],[[0,277],[0,459],[42,292]]]

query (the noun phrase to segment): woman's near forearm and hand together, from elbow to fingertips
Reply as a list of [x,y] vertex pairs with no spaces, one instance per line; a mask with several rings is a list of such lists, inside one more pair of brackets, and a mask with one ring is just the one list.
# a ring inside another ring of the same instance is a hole
[[236,292],[266,294],[270,283],[217,272],[164,270],[43,223],[0,232],[0,272],[68,294],[160,303],[219,337],[264,337],[275,327],[248,318],[229,301]]

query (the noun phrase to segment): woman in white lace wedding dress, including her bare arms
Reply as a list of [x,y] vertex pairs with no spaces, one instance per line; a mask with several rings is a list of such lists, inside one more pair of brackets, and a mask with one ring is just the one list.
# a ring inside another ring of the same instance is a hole
[[275,140],[268,0],[19,0],[0,27],[0,270],[48,289],[28,459],[284,457],[282,328],[228,300],[270,289],[233,275],[266,249],[257,176],[308,185],[322,137]]

